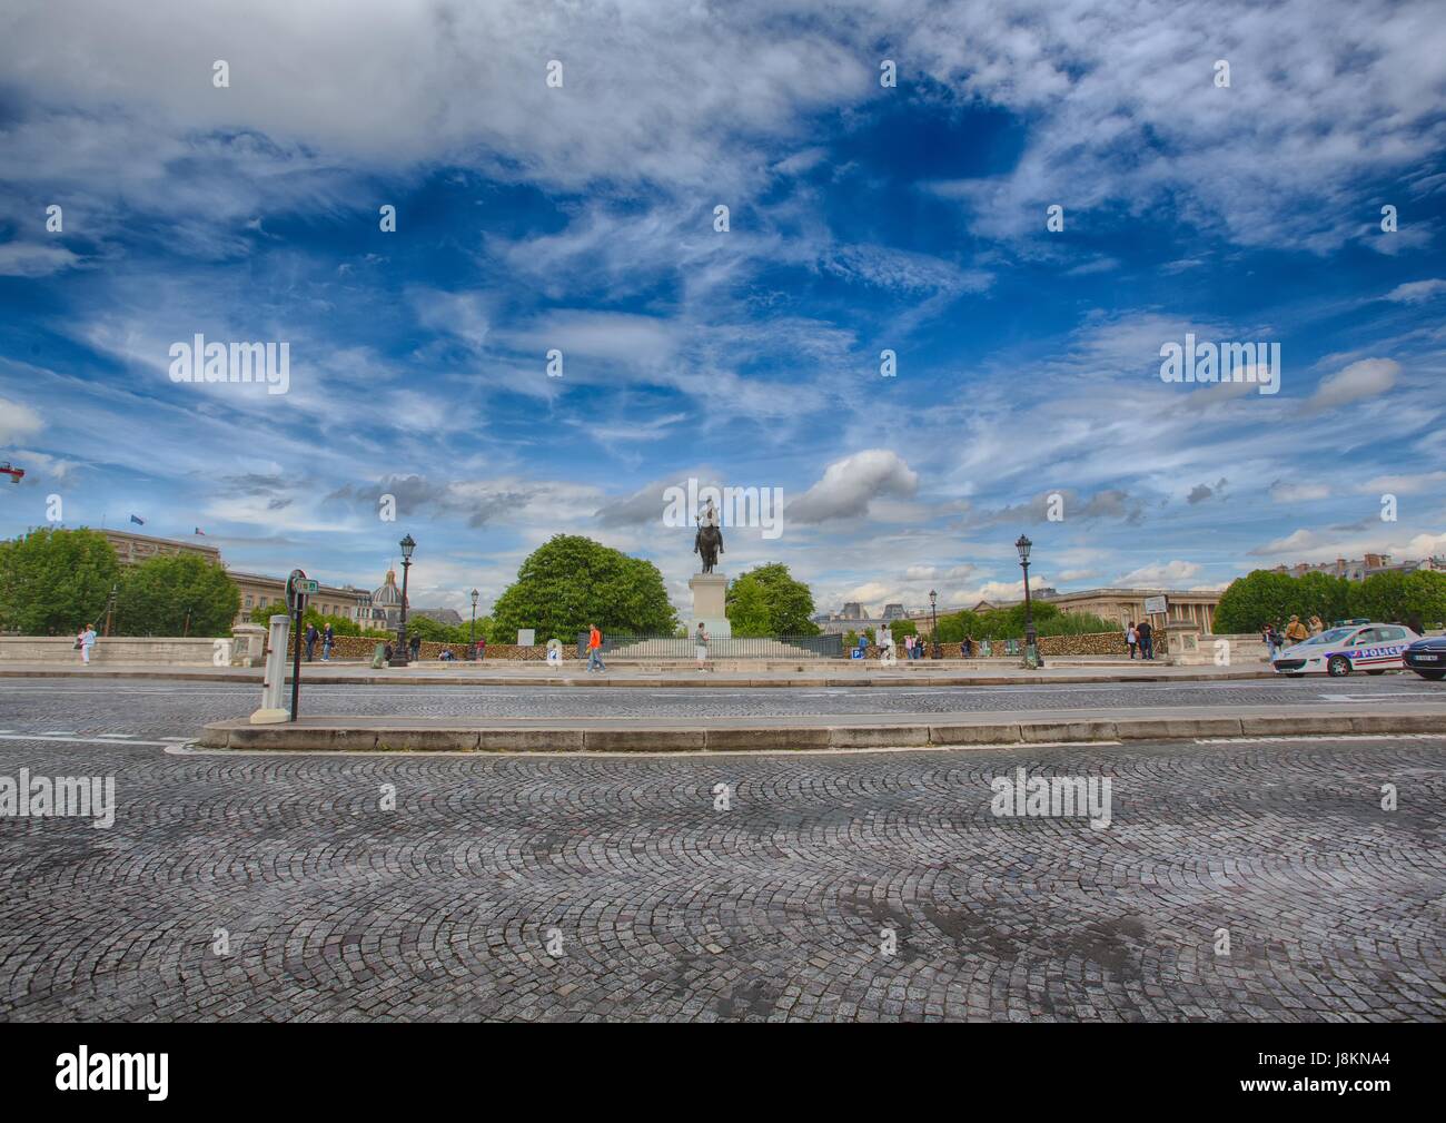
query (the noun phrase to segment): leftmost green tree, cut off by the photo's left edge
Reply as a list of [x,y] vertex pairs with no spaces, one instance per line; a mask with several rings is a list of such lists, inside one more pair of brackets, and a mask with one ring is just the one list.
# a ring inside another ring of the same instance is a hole
[[0,543],[0,628],[22,635],[97,631],[120,573],[116,551],[94,530],[29,531]]

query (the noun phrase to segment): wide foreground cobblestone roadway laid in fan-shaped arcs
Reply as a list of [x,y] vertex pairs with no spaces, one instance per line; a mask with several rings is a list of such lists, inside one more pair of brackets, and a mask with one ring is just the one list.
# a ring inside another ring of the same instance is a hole
[[[22,767],[119,813],[0,818],[4,1019],[1446,1016],[1446,738]],[[1112,825],[995,818],[1017,767]]]

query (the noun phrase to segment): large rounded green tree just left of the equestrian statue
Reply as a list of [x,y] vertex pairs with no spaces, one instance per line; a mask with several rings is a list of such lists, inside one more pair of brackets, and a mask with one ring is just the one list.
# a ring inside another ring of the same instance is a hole
[[539,644],[576,643],[589,624],[633,635],[671,635],[678,627],[655,564],[576,534],[558,534],[528,556],[492,621],[499,640],[535,628]]

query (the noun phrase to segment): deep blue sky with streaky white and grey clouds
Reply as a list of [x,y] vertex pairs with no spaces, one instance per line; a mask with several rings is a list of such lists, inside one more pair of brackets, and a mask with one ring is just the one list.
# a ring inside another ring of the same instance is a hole
[[[782,489],[722,569],[820,608],[1015,595],[1021,531],[1060,589],[1446,554],[1443,104],[1429,3],[10,3],[0,533],[369,588],[411,533],[458,608],[562,531],[685,608],[690,476]],[[1163,382],[1187,331],[1280,392]]]

